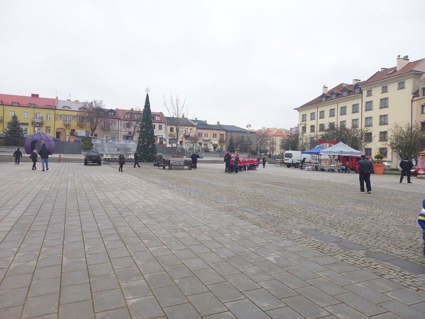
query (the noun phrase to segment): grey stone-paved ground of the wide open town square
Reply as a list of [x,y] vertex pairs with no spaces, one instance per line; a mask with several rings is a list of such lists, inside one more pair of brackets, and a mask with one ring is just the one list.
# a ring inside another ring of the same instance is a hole
[[[129,163],[130,164],[130,163]],[[425,181],[0,164],[0,318],[425,318]]]

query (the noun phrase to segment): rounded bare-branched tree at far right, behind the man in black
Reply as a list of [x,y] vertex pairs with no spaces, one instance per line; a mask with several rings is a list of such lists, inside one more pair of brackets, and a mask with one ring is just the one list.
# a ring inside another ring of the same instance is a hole
[[425,146],[425,133],[418,123],[401,125],[396,123],[390,129],[388,145],[401,158],[409,156],[418,161],[418,153]]

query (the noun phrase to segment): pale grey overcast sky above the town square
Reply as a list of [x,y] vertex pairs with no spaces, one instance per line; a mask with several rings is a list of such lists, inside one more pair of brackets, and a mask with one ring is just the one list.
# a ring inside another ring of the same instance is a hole
[[339,83],[425,58],[424,0],[0,0],[0,93],[290,128]]

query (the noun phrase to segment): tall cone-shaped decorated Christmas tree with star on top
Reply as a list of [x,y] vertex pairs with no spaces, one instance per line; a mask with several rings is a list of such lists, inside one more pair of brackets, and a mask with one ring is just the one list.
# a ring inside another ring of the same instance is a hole
[[[148,89],[146,89],[149,92]],[[139,155],[139,161],[155,161],[157,147],[155,145],[154,127],[152,125],[151,104],[149,103],[149,94],[146,93],[145,107],[143,108],[142,124],[140,125],[139,137],[137,139],[136,152]]]

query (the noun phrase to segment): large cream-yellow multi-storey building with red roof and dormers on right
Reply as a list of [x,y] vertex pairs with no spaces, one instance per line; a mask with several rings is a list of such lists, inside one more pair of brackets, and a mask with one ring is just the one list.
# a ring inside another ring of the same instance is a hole
[[397,168],[397,155],[388,146],[389,132],[395,123],[412,122],[421,123],[425,130],[424,74],[425,59],[409,62],[408,56],[399,56],[395,67],[382,68],[366,81],[356,79],[330,90],[324,86],[322,95],[295,108],[300,134],[314,147],[328,127],[369,127],[369,143],[361,151],[372,157],[381,153],[384,161]]

